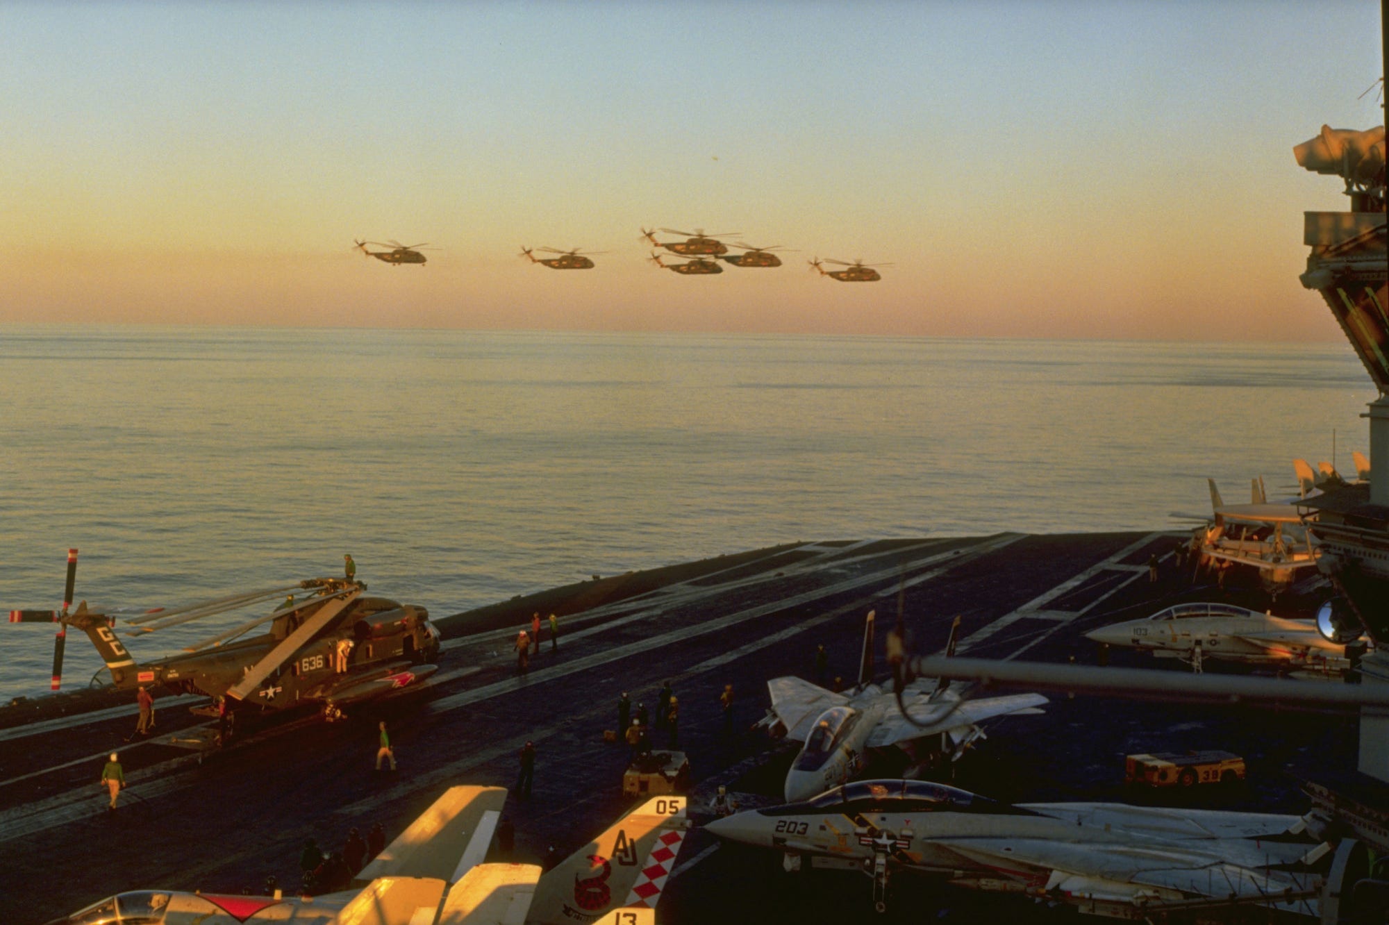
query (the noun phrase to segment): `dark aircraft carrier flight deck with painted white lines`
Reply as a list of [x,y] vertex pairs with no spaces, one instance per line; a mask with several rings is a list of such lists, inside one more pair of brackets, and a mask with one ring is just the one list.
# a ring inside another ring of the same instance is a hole
[[[306,839],[340,849],[349,828],[365,832],[375,822],[394,838],[449,785],[510,788],[528,740],[536,749],[535,793],[529,800],[511,793],[506,808],[515,828],[514,860],[564,857],[635,803],[621,790],[628,749],[603,733],[617,728],[622,692],[633,710],[638,703],[654,710],[665,681],[679,700],[679,747],[690,761],[696,818],[721,785],[745,808],[779,803],[796,746],[751,728],[768,707],[767,682],[783,675],[814,682],[815,650],[824,644],[831,683],[853,685],[867,611],[878,614],[882,681],[883,638],[899,600],[913,651],[940,651],[958,615],[957,654],[1083,664],[1096,661],[1096,646],[1085,638],[1096,626],[1178,601],[1267,607],[1257,582],[1218,589],[1178,572],[1172,550],[1185,536],[806,542],[590,579],[436,619],[444,635],[439,669],[418,693],[350,710],[332,724],[310,711],[247,722],[221,751],[171,743],[215,726],[189,712],[200,703],[193,696],[160,697],[156,733],[132,742],[136,708],[128,693],[13,704],[0,708],[0,921],[44,922],[138,888],[258,893],[267,876],[293,888]],[[1290,593],[1278,610],[1297,614],[1304,604]],[[551,650],[546,628],[528,675],[518,678],[514,640],[532,612],[560,615],[558,646]],[[1118,649],[1110,664],[1154,667],[1150,657]],[[1208,662],[1206,671],[1249,669]],[[733,686],[732,733],[720,703],[725,685]],[[1353,718],[1064,694],[1049,700],[1040,714],[992,722],[988,738],[938,779],[1003,801],[1303,814],[1310,808],[1306,776],[1356,765]],[[394,772],[372,767],[381,719],[396,747]],[[656,729],[653,746],[665,744],[665,732]],[[1126,754],[1213,749],[1242,756],[1247,779],[1179,796],[1124,785]],[[97,779],[113,750],[121,753],[129,789],[107,812]],[[904,767],[904,760],[878,761],[870,767],[878,776]],[[667,925],[967,922],[985,912],[1031,922],[1068,911],[910,876],[892,883],[892,903],[879,915],[863,875],[788,874],[772,853],[720,844],[696,829],[656,915]]]

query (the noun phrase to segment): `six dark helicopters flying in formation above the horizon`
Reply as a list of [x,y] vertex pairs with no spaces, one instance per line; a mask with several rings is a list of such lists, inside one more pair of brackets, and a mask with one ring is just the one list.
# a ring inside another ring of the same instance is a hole
[[[656,238],[657,232],[665,235],[681,235],[685,240],[658,240]],[[743,242],[729,242],[725,243],[722,238],[732,238],[740,232],[704,232],[703,228],[696,228],[693,232],[683,232],[675,228],[642,228],[642,240],[651,244],[650,261],[660,267],[661,269],[669,269],[671,272],[681,274],[683,276],[708,276],[714,274],[724,272],[724,268],[718,261],[724,261],[732,267],[742,268],[772,268],[781,267],[782,260],[772,251],[789,250],[781,244],[772,244],[771,247],[754,247]],[[356,240],[356,239],[354,239]],[[421,253],[426,244],[401,244],[397,240],[389,240],[386,243],[358,240],[356,242],[357,249],[367,257],[375,257],[383,262],[399,267],[400,264],[425,264],[428,262],[425,256]],[[390,250],[367,250],[367,244],[374,244],[376,247],[389,247]],[[743,253],[735,254],[729,249],[738,249]],[[668,253],[663,254],[661,250]],[[556,254],[554,257],[536,257],[536,251],[544,254]],[[604,250],[590,250],[585,251],[578,247],[571,250],[560,250],[558,247],[521,247],[521,257],[529,260],[532,264],[539,264],[550,269],[593,269],[596,264],[592,257],[597,254],[606,254]],[[671,254],[678,257],[685,257],[683,262],[665,262],[661,257],[669,257]],[[863,260],[856,260],[854,262],[847,262],[843,260],[821,260],[815,257],[807,261],[814,272],[821,276],[826,276],[836,282],[878,282],[882,275],[878,272],[878,267],[890,267],[892,264],[865,264]],[[845,267],[845,269],[825,269],[824,264],[836,264]]]

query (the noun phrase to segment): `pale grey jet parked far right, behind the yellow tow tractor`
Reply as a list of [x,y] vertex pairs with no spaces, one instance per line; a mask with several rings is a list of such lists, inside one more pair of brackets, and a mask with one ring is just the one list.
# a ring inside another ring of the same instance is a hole
[[1346,643],[1332,642],[1311,619],[1260,614],[1232,604],[1176,604],[1145,619],[1110,624],[1088,639],[1145,649],[1157,658],[1181,658],[1200,674],[1207,658],[1290,669],[1343,672]]

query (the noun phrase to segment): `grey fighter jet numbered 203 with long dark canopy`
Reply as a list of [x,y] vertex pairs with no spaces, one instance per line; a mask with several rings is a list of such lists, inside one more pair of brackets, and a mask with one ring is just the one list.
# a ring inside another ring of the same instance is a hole
[[811,867],[867,872],[878,911],[886,910],[889,878],[915,871],[1114,918],[1210,900],[1315,915],[1318,881],[1310,868],[1331,851],[1317,817],[1121,803],[1008,806],[924,781],[860,781],[704,828],[783,851],[788,869],[808,858]]

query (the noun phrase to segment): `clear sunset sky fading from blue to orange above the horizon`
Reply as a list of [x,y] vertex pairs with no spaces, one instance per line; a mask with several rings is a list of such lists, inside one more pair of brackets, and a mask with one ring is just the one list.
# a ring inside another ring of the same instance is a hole
[[0,325],[1336,340],[1292,147],[1383,122],[1367,0],[0,0]]

